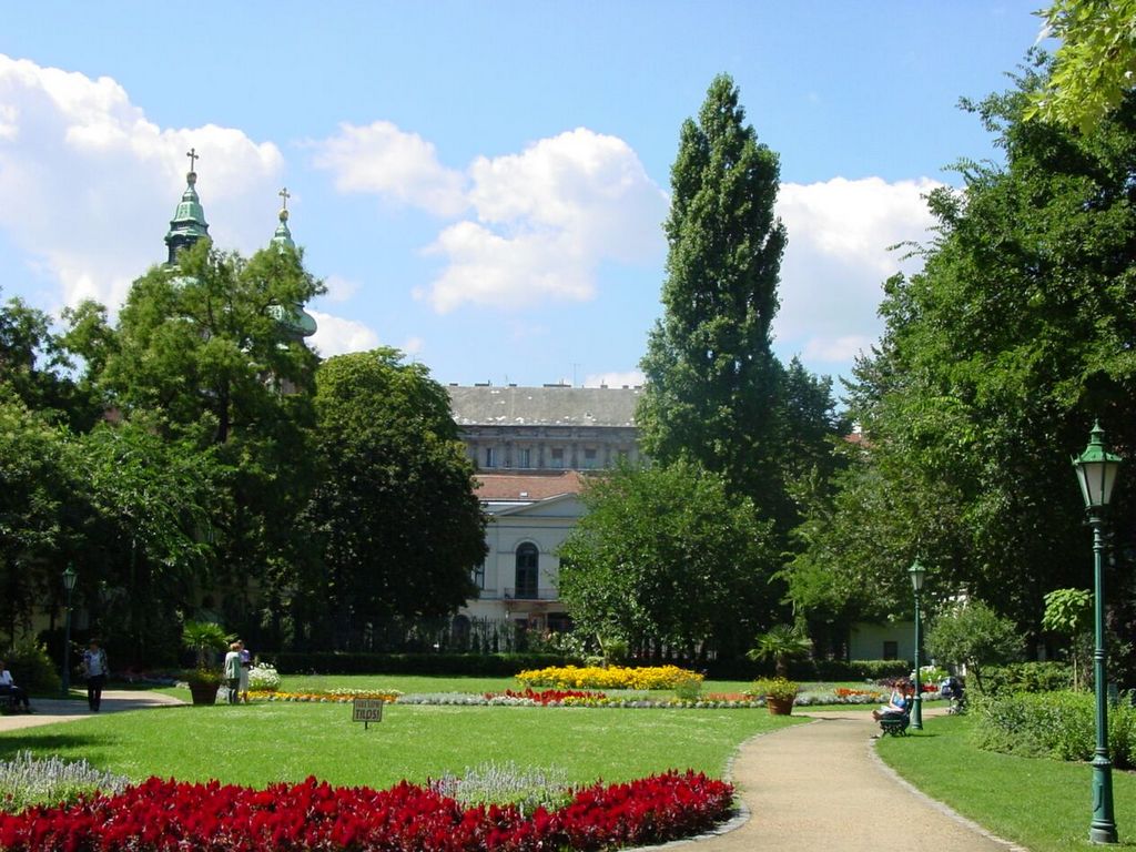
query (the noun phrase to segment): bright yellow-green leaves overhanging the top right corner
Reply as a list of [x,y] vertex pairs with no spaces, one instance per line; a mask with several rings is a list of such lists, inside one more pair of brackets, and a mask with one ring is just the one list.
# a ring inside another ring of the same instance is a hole
[[1038,14],[1062,44],[1026,116],[1091,133],[1136,83],[1136,0],[1055,0]]

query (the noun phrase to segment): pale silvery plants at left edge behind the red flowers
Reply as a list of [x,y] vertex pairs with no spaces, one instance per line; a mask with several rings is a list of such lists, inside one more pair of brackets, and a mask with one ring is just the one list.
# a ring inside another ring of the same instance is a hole
[[0,761],[0,811],[18,813],[33,804],[69,804],[97,790],[120,793],[128,783],[124,776],[103,772],[85,760],[41,759],[22,751]]

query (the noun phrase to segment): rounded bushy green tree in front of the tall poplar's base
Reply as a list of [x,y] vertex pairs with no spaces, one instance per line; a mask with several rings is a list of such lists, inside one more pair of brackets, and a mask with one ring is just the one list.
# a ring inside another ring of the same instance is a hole
[[560,549],[559,592],[577,629],[738,654],[770,620],[770,523],[692,461],[590,481],[587,513]]

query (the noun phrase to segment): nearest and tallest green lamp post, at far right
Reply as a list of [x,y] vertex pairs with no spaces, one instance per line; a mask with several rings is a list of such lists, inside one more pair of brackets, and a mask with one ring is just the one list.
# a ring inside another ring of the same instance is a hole
[[1112,761],[1109,760],[1109,703],[1105,695],[1104,666],[1104,511],[1117,482],[1120,457],[1104,446],[1104,429],[1093,424],[1088,446],[1072,460],[1085,498],[1088,525],[1093,527],[1093,591],[1096,623],[1093,650],[1093,680],[1096,692],[1096,749],[1093,751],[1093,821],[1088,840],[1093,843],[1116,843],[1117,822],[1112,816]]

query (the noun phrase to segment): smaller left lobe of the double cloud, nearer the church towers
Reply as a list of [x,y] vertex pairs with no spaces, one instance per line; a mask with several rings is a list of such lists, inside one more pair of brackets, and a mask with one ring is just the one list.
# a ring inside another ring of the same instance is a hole
[[315,148],[316,167],[335,174],[340,192],[373,192],[437,216],[466,208],[461,173],[442,166],[431,142],[390,122],[341,124],[339,135]]

